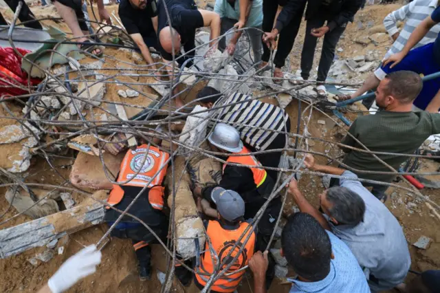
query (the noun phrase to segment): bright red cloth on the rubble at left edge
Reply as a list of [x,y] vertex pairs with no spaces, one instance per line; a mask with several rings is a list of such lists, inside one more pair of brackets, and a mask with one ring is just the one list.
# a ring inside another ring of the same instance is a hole
[[[20,48],[17,48],[17,51],[22,55],[30,53],[29,50]],[[39,83],[41,83],[40,78],[30,78],[31,85],[38,85]],[[14,87],[14,85],[28,87],[28,74],[21,69],[21,57],[15,53],[14,49],[0,47],[0,98],[3,98],[6,94],[19,96],[29,93],[28,90]]]

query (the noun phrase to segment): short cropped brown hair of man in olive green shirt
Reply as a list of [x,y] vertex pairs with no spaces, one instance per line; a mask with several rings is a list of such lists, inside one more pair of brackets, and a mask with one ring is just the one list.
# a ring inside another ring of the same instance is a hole
[[391,74],[386,74],[385,78],[390,80],[386,94],[397,98],[402,104],[412,103],[423,87],[419,74],[408,70],[391,72]]

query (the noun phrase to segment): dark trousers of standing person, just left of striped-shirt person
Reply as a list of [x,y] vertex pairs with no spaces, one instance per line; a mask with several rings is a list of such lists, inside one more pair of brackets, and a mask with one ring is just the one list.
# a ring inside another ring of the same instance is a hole
[[[314,65],[314,55],[316,42],[318,38],[311,35],[311,30],[320,28],[324,25],[325,19],[309,19],[307,21],[307,28],[305,30],[305,38],[303,45],[303,52],[301,53],[301,77],[305,80],[309,79],[311,67]],[[336,45],[345,30],[345,26],[336,27],[332,31],[324,35],[324,43],[322,44],[322,53],[318,66],[318,81],[324,82],[327,79],[327,74],[335,57]]]

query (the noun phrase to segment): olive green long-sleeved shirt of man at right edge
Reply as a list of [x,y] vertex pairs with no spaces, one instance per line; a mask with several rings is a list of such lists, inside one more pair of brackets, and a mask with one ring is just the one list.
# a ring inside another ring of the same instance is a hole
[[[370,151],[412,154],[432,134],[440,133],[440,113],[379,111],[375,115],[361,116],[351,124],[349,133]],[[363,149],[347,135],[342,144]],[[344,164],[363,171],[391,172],[369,153],[344,149]],[[394,169],[399,170],[408,157],[377,155]],[[360,178],[391,182],[395,175],[377,175],[353,171]]]

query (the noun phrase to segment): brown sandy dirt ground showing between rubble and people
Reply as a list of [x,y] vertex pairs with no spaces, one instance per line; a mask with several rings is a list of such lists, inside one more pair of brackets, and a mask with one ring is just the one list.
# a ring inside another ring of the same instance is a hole
[[[344,33],[344,39],[340,41],[338,47],[342,48],[340,58],[350,58],[363,54],[367,50],[378,50],[383,55],[388,47],[389,43],[382,43],[375,47],[370,44],[366,47],[355,43],[354,40],[364,34],[369,34],[370,30],[380,29],[382,19],[395,8],[399,7],[397,4],[388,6],[369,6],[364,10],[358,12],[355,17],[354,23],[347,26],[347,30]],[[5,9],[0,8],[2,13]],[[44,15],[47,12],[47,8],[42,9],[38,6],[32,7],[32,10],[37,15]],[[117,9],[115,6],[109,8],[110,12]],[[49,13],[53,15],[53,11]],[[6,19],[12,17],[11,12],[3,13]],[[359,21],[362,22],[362,28],[358,28]],[[67,26],[64,23],[56,23],[55,21],[44,21],[45,25],[55,25],[62,30],[68,31]],[[297,41],[294,45],[294,50],[290,56],[291,71],[295,72],[299,68],[300,52],[302,50],[302,43],[305,34],[305,25],[303,23],[300,33],[298,34]],[[318,43],[318,48],[322,43]],[[318,56],[320,50],[317,50],[315,63],[318,64]],[[120,52],[112,49],[105,51],[107,55],[113,55],[115,58],[109,60],[106,66],[113,66],[121,61],[129,61],[130,56],[127,56],[126,52]],[[115,73],[115,72],[113,72]],[[128,81],[128,80],[124,80]],[[143,81],[143,80],[142,80]],[[106,95],[109,100],[113,100],[115,97],[115,91],[118,90],[116,85],[109,85],[107,91],[110,93]],[[143,89],[146,90],[146,89]],[[154,94],[153,92],[151,92]],[[116,95],[117,96],[117,95]],[[274,102],[274,100],[268,100]],[[140,99],[133,100],[133,104],[141,102]],[[304,106],[304,105],[303,105]],[[304,109],[304,107],[303,107]],[[296,120],[298,117],[298,104],[293,101],[291,105],[287,107],[287,111],[292,121],[292,131],[296,129]],[[354,114],[347,115],[351,120],[355,118]],[[325,120],[326,125],[322,126],[317,123],[317,120]],[[3,123],[0,121],[0,123]],[[309,124],[309,131],[313,137],[325,138],[326,140],[338,140],[341,137],[342,131],[337,127],[333,127],[334,123],[329,118],[326,118],[322,113],[314,112],[313,118]],[[303,129],[301,129],[301,132]],[[329,150],[329,155],[337,156],[338,150],[330,149],[328,144],[322,142],[311,143],[311,148],[317,151]],[[3,151],[1,152],[3,153]],[[73,157],[74,153],[70,152],[64,154],[66,157]],[[319,160],[321,163],[327,163],[324,159]],[[73,160],[54,158],[52,163],[57,166],[58,171],[65,178],[69,176],[69,166],[73,164]],[[32,166],[28,171],[30,182],[44,183],[44,184],[61,184],[64,180],[51,170],[50,166],[42,158],[36,158],[32,162]],[[440,180],[440,178],[437,178]],[[300,188],[308,197],[308,199],[314,205],[318,205],[317,195],[322,191],[322,185],[320,184],[320,178],[304,176],[300,180]],[[0,194],[5,193],[5,188],[1,188]],[[428,195],[437,204],[440,204],[440,191],[434,189],[424,189],[423,195]],[[435,218],[425,204],[417,201],[415,198],[407,195],[404,191],[389,192],[391,199],[388,200],[387,206],[391,209],[392,213],[399,219],[399,222],[404,227],[406,239],[408,240],[410,253],[412,258],[412,270],[423,271],[427,269],[440,269],[440,230],[439,219]],[[77,202],[83,200],[83,196],[74,195]],[[408,208],[408,202],[415,204]],[[287,200],[287,206],[285,207],[285,214],[292,213],[292,201]],[[5,201],[3,196],[0,196],[0,215],[3,214],[8,207],[8,202]],[[9,210],[0,220],[4,221],[16,214],[15,210]],[[8,221],[3,224],[1,228],[7,228],[17,224],[21,224],[25,221],[29,221],[28,217],[23,215]],[[77,232],[74,235],[65,237],[58,242],[58,246],[64,246],[65,251],[61,255],[56,255],[48,263],[39,262],[37,265],[32,265],[27,260],[34,257],[35,254],[41,252],[43,249],[30,250],[19,256],[12,257],[10,259],[0,260],[0,292],[36,292],[39,287],[43,286],[47,279],[56,271],[56,269],[72,254],[78,252],[83,246],[87,246],[91,243],[96,243],[104,232],[105,226],[97,226]],[[419,250],[410,245],[414,243],[421,236],[427,236],[432,239],[430,246],[427,250]],[[69,292],[85,292],[85,293],[104,293],[104,292],[159,292],[160,283],[157,280],[153,272],[153,279],[148,282],[140,282],[137,279],[135,256],[131,248],[129,241],[122,241],[120,239],[112,239],[107,246],[102,250],[103,261],[98,271],[93,276],[89,276],[83,281],[78,282]],[[153,246],[153,267],[155,270],[165,271],[165,253],[159,246]],[[413,277],[412,274],[408,274],[408,279]],[[243,279],[239,292],[252,292],[250,286],[252,285],[252,279],[246,277]],[[272,285],[270,292],[288,292],[289,285],[281,285],[281,281],[276,280]],[[189,288],[182,288],[181,285],[175,282],[173,286],[174,292],[198,292],[194,285]]]

